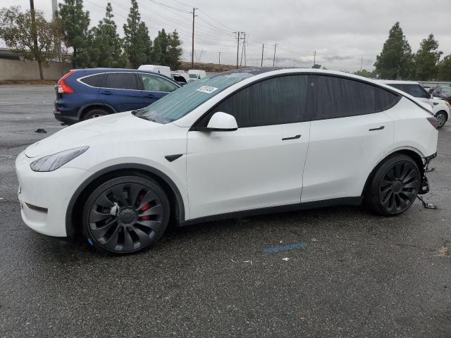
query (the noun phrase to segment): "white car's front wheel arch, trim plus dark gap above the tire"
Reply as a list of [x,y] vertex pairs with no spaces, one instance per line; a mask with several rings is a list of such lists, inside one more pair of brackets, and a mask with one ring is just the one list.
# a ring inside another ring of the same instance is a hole
[[177,185],[170,177],[168,177],[168,175],[149,165],[140,163],[122,163],[99,170],[97,173],[89,176],[82,184],[80,184],[78,189],[75,190],[66,210],[67,237],[73,239],[79,234],[81,208],[83,207],[87,196],[89,196],[89,193],[92,192],[92,189],[95,189],[99,184],[106,182],[106,180],[109,180],[112,177],[118,177],[118,175],[124,174],[130,175],[133,173],[147,175],[158,182],[168,195],[169,204],[171,206],[171,218],[175,219],[177,224],[183,223],[185,220],[185,204],[183,202],[183,197],[180,194]]

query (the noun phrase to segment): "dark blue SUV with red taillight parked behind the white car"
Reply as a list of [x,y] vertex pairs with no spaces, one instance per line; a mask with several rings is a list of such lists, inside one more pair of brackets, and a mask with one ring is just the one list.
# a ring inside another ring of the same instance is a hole
[[136,69],[70,70],[56,84],[54,115],[63,123],[144,108],[180,84],[161,74]]

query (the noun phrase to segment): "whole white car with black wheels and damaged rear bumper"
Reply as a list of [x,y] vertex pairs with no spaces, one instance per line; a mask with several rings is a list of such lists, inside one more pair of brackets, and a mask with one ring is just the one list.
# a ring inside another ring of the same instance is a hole
[[233,70],[28,146],[18,199],[33,230],[111,253],[148,248],[169,220],[362,201],[398,215],[428,192],[437,125],[427,104],[364,77]]

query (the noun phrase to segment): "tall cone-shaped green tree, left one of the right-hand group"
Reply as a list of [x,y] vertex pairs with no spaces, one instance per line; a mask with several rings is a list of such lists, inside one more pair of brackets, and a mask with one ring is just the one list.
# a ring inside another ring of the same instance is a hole
[[412,73],[412,49],[407,42],[400,23],[395,23],[383,44],[381,54],[376,56],[376,75],[386,80],[404,80]]

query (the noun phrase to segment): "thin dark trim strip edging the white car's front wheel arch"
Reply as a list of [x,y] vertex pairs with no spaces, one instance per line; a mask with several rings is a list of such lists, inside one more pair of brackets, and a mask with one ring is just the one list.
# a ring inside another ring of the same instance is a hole
[[80,196],[80,194],[82,194],[82,192],[86,189],[86,187],[89,184],[91,184],[92,182],[94,182],[95,180],[97,180],[97,178],[99,178],[105,174],[112,173],[117,170],[133,170],[133,169],[142,170],[147,173],[152,173],[153,175],[158,176],[161,180],[166,182],[166,184],[168,184],[169,187],[171,187],[171,189],[175,195],[175,200],[177,203],[178,222],[180,224],[183,224],[185,222],[185,204],[183,203],[183,197],[180,194],[180,190],[178,189],[177,185],[175,185],[173,180],[171,180],[171,178],[168,177],[168,175],[166,175],[165,173],[162,173],[160,170],[158,170],[156,168],[150,167],[149,165],[144,165],[144,164],[140,164],[140,163],[121,163],[121,164],[117,164],[117,165],[111,165],[110,167],[107,167],[107,168],[97,171],[93,175],[89,176],[85,180],[85,182],[82,182],[82,184],[80,184],[80,186],[77,188],[77,190],[75,190],[72,197],[70,198],[68,208],[66,211],[66,235],[67,235],[67,237],[73,238],[75,235],[75,227],[73,225],[73,208],[75,206],[75,203],[77,202],[78,197]]

